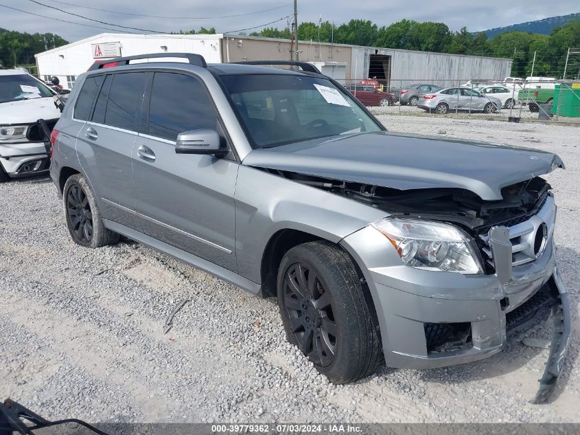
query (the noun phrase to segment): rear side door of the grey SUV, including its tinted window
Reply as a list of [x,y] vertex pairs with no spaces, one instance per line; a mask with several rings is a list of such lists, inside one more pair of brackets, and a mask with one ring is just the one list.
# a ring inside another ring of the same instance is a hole
[[106,75],[77,141],[80,164],[103,217],[128,227],[135,227],[131,154],[147,76],[143,72]]

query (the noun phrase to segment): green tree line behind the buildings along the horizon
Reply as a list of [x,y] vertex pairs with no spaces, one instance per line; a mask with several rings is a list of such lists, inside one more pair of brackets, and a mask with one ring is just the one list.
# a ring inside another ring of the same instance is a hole
[[[180,30],[176,33],[214,34],[216,29],[201,27],[199,30]],[[288,27],[266,27],[259,32],[252,32],[251,36],[290,39],[291,33]],[[300,23],[298,37],[301,41],[320,40],[325,43],[512,58],[512,76],[529,76],[534,64],[534,76],[562,78],[568,47],[580,47],[580,20],[568,21],[565,25],[555,27],[549,35],[505,32],[487,38],[484,32],[474,34],[466,27],[459,32],[452,32],[444,23],[431,21],[419,23],[404,19],[378,27],[369,20],[353,19],[340,25],[329,21],[319,24]],[[56,34],[29,34],[0,28],[0,65],[33,65],[34,54],[67,43]],[[571,56],[566,78],[575,78],[579,68],[580,56]]]

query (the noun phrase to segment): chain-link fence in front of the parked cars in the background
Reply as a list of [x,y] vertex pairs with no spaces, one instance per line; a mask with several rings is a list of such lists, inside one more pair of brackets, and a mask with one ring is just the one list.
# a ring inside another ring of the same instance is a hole
[[580,80],[337,80],[378,113],[580,124]]

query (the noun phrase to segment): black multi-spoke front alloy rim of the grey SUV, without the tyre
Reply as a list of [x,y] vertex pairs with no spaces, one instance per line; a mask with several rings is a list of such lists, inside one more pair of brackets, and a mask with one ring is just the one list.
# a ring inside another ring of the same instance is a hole
[[338,333],[330,295],[316,271],[303,263],[290,265],[283,279],[283,298],[290,332],[300,350],[316,366],[332,364]]

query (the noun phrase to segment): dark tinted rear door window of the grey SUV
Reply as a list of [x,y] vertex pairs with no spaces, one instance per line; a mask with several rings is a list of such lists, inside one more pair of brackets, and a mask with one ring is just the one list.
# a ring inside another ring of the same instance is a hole
[[105,124],[137,131],[147,74],[114,74],[105,111]]

